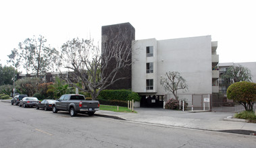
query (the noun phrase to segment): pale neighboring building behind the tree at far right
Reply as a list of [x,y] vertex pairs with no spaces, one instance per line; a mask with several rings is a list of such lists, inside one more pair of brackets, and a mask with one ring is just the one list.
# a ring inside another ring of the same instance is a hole
[[252,81],[256,82],[256,62],[249,62],[249,63],[219,63],[217,65],[218,69],[220,69],[220,79],[219,79],[219,91],[222,94],[226,94],[228,87],[230,86],[229,83],[225,83],[224,80],[221,78],[222,75],[226,73],[229,67],[234,65],[241,65],[243,67],[247,67],[251,71]]

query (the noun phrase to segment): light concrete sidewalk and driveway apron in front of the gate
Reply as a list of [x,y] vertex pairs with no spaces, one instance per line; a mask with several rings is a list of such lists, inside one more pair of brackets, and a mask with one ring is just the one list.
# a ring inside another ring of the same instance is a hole
[[[99,115],[115,116],[133,122],[194,128],[208,131],[247,131],[256,134],[256,124],[242,119],[227,118],[234,113],[227,112],[182,112],[162,108],[135,108],[137,114],[100,110]],[[238,132],[230,132],[238,133]]]

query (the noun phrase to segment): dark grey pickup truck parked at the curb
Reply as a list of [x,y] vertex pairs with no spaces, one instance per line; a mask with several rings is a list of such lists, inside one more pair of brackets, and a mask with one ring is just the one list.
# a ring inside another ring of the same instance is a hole
[[70,112],[70,116],[76,116],[79,112],[93,116],[99,110],[99,101],[85,100],[82,95],[66,94],[62,95],[58,101],[53,104],[53,113],[63,110]]

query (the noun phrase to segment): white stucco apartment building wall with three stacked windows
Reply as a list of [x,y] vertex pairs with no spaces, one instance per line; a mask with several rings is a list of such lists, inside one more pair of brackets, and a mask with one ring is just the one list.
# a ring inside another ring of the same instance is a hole
[[132,91],[140,95],[165,95],[161,77],[178,71],[188,85],[186,94],[212,94],[219,90],[217,42],[211,36],[168,40],[134,40],[132,44]]

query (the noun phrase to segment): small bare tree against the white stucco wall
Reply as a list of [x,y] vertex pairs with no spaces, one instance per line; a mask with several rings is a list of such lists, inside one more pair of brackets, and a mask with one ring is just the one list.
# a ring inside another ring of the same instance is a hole
[[186,80],[180,76],[178,71],[172,71],[165,74],[165,77],[161,78],[160,84],[165,91],[170,91],[178,100],[178,90],[184,89],[188,90],[188,85],[186,85]]

